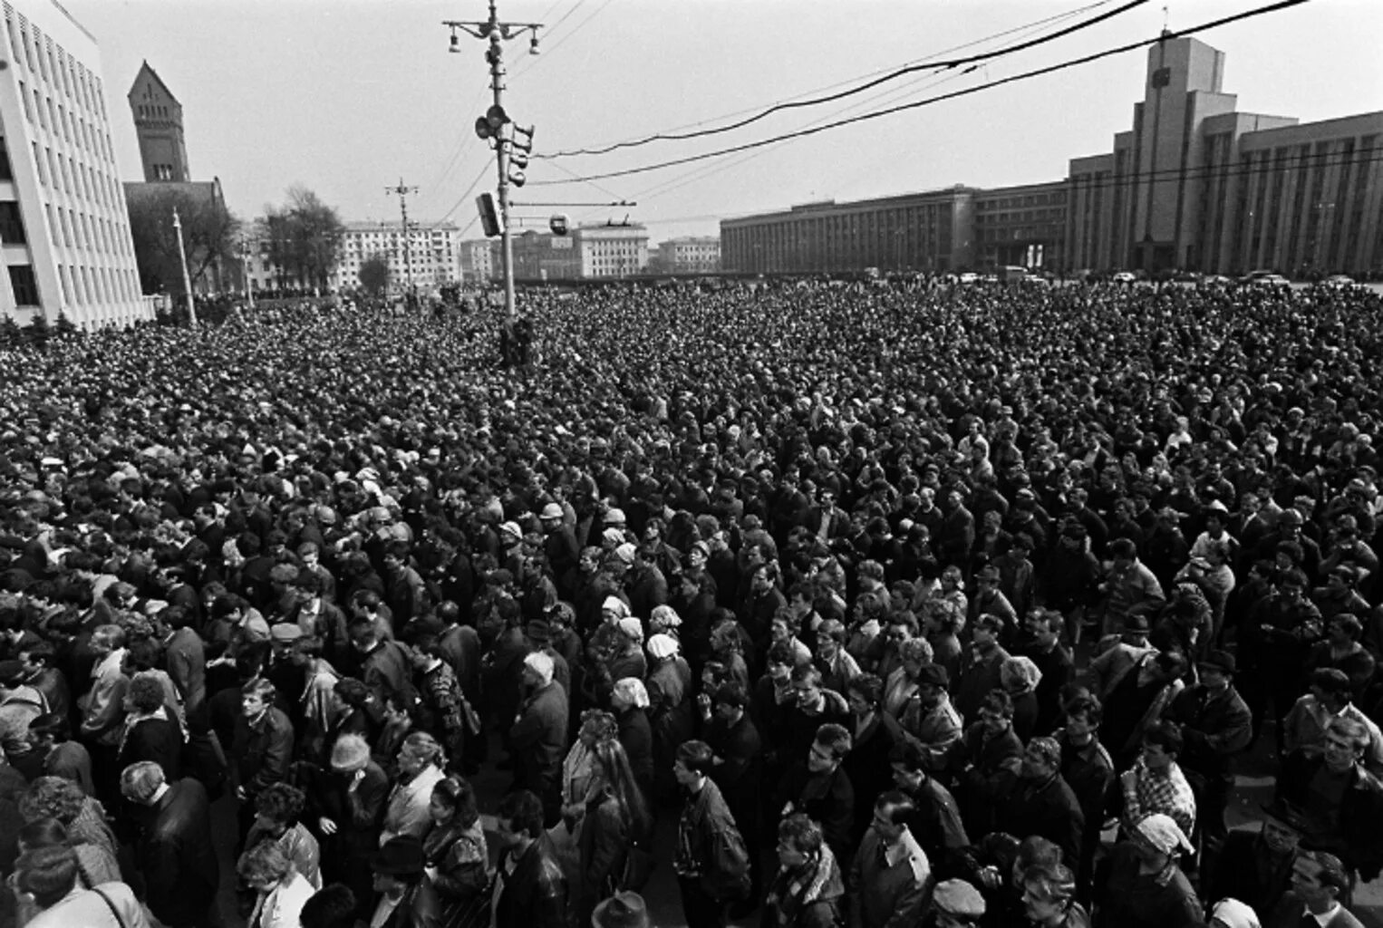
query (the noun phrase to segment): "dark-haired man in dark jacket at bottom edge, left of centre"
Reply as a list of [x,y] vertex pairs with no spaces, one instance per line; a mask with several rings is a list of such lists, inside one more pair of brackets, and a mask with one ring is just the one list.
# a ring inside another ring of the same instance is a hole
[[495,924],[567,928],[567,878],[544,828],[544,802],[528,790],[510,792],[496,816],[498,871]]

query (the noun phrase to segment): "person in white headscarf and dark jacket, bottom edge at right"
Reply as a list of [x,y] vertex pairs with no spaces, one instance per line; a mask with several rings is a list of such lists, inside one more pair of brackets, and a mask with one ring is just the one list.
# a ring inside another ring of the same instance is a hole
[[1133,824],[1095,870],[1094,928],[1191,928],[1202,922],[1200,900],[1177,866],[1191,841],[1169,816]]

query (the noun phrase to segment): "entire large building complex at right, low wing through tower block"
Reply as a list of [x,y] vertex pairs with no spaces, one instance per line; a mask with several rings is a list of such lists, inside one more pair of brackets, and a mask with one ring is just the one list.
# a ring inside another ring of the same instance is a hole
[[721,223],[727,271],[1182,268],[1383,274],[1383,112],[1299,124],[1235,111],[1224,53],[1148,50],[1113,149],[1065,181],[808,203]]

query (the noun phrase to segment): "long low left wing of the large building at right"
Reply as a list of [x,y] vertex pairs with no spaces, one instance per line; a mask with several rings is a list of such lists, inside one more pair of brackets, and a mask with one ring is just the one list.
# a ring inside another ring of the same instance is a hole
[[976,191],[806,203],[721,223],[721,266],[739,272],[957,271],[974,261]]

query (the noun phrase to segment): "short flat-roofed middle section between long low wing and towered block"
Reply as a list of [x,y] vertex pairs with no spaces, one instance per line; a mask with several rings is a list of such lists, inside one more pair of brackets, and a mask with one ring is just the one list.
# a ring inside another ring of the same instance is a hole
[[1066,267],[1065,181],[975,192],[975,267]]

